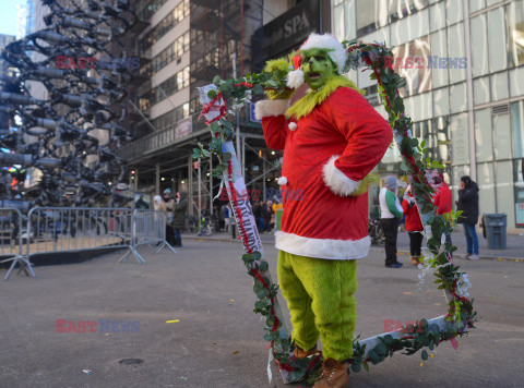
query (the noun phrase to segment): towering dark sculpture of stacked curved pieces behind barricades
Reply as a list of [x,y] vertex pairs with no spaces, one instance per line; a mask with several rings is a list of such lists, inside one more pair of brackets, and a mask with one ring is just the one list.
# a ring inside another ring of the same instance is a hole
[[[41,1],[51,10],[47,28],[10,44],[2,53],[17,73],[0,80],[0,105],[13,122],[19,117],[22,123],[0,140],[1,147],[17,153],[0,154],[0,166],[41,171],[39,182],[24,191],[31,206],[122,206],[132,198],[118,193],[124,167],[114,150],[130,140],[121,125],[124,87],[132,77],[122,41],[136,15],[130,0]],[[41,60],[34,60],[34,53]],[[105,65],[99,61],[117,56]],[[32,97],[28,81],[41,83],[48,98]],[[107,142],[100,144],[100,134]],[[0,181],[0,197],[11,199],[8,180],[3,185]],[[66,190],[75,192],[71,202]]]

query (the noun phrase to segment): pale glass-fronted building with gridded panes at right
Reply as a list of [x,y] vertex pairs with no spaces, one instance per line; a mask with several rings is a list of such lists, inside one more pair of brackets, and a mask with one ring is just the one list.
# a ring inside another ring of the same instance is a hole
[[[471,175],[480,214],[524,228],[524,1],[334,0],[332,15],[340,39],[394,47],[413,135],[444,162],[455,198]],[[350,76],[385,116],[369,72]],[[395,150],[379,171],[401,171]]]

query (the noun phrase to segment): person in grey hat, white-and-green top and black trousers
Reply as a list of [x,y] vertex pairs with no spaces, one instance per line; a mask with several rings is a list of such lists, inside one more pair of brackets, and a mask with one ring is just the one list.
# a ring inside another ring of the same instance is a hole
[[379,194],[381,211],[380,223],[382,225],[385,237],[385,266],[389,268],[402,267],[402,263],[398,263],[396,259],[398,225],[404,216],[401,203],[394,193],[397,181],[393,175],[385,177],[384,186]]

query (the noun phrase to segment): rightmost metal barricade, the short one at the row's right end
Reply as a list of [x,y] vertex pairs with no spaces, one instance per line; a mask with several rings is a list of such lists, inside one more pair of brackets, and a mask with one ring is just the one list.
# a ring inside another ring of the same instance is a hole
[[178,253],[166,241],[166,214],[164,211],[135,209],[133,213],[132,240],[135,250],[140,245],[148,245],[155,254],[164,247],[169,248],[175,254]]

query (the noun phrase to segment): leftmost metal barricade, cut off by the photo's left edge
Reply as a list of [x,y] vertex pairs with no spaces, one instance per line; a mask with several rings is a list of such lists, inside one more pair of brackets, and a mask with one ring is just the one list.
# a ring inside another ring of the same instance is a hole
[[29,258],[23,255],[22,227],[23,219],[19,209],[0,208],[0,258],[8,256],[0,263],[13,262],[3,280],[9,279],[16,265],[20,265],[19,272],[24,270],[25,275],[31,274],[36,278]]

